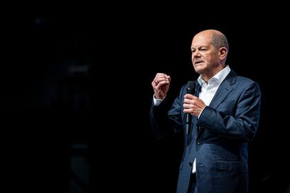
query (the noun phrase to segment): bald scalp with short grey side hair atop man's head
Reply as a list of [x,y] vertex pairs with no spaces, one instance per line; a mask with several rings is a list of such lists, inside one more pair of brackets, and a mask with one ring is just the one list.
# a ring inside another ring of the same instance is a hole
[[225,47],[229,52],[229,43],[226,36],[218,30],[204,30],[195,35],[195,37],[206,37],[211,39],[211,45],[215,48]]

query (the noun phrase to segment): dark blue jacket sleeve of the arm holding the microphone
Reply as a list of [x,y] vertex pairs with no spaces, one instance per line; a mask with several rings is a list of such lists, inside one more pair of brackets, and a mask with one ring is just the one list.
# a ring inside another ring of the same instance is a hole
[[249,142],[253,140],[258,128],[260,96],[258,84],[252,82],[236,99],[235,114],[224,114],[206,106],[197,121],[197,126],[229,139]]

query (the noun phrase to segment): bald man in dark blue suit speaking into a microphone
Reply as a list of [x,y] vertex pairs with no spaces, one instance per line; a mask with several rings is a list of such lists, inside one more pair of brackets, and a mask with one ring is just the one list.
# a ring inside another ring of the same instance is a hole
[[[158,139],[184,132],[177,192],[247,192],[247,143],[258,128],[259,85],[238,77],[225,64],[229,45],[222,32],[199,32],[193,37],[191,52],[193,68],[200,74],[194,94],[186,94],[184,85],[167,111],[171,77],[157,73],[152,81],[153,132]],[[192,115],[189,132],[186,114]]]

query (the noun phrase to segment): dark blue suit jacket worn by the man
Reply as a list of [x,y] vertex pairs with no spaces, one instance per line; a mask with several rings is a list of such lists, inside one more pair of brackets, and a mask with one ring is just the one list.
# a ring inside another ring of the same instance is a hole
[[[197,90],[200,85],[196,81]],[[171,109],[166,99],[152,105],[151,124],[157,138],[184,131],[184,154],[180,163],[177,192],[184,193],[196,158],[197,192],[247,192],[248,150],[260,116],[258,83],[231,71],[222,81],[200,118],[193,116],[191,132],[185,133],[183,100],[186,85]],[[195,93],[198,96],[198,91]],[[172,127],[173,125],[174,127]]]

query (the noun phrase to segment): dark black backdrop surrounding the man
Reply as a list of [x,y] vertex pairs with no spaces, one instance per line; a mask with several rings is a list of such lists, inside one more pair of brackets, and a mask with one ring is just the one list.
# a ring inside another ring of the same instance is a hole
[[[249,143],[250,192],[286,192],[287,12],[269,6],[113,3],[6,14],[1,107],[10,188],[66,192],[68,146],[82,141],[90,147],[94,192],[175,192],[182,136],[158,141],[151,134],[151,81],[169,74],[168,95],[177,96],[198,77],[193,35],[216,29],[228,38],[231,69],[262,91],[260,125]],[[88,65],[88,73],[69,77],[71,63]],[[82,94],[76,101],[75,90]]]

